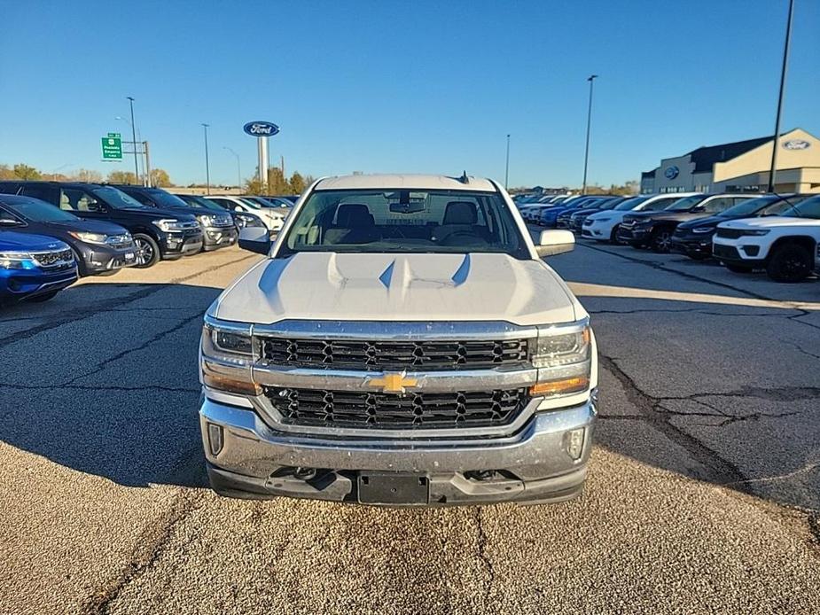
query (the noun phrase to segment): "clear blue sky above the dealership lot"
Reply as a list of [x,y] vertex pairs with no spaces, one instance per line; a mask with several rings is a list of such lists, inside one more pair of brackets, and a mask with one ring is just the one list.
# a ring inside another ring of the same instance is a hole
[[[783,127],[820,135],[820,2],[796,0]],[[213,183],[281,127],[287,172],[488,175],[580,185],[774,129],[786,0],[17,2],[0,0],[0,163],[104,173],[99,138],[137,99],[152,166]]]

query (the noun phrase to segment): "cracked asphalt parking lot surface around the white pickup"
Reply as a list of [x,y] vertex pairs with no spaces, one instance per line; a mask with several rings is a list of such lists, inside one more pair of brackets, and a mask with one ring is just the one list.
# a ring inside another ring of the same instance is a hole
[[582,498],[372,509],[212,494],[201,315],[230,248],[0,311],[0,612],[820,612],[820,282],[582,243]]

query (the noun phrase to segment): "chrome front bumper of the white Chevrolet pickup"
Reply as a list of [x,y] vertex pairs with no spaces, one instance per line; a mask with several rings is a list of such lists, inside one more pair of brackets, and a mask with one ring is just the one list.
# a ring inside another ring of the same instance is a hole
[[[425,502],[390,505],[430,506],[572,499],[586,477],[595,416],[590,399],[538,412],[517,432],[499,438],[341,439],[331,431],[280,432],[254,409],[207,397],[199,408],[208,476],[220,494],[358,502],[362,472],[395,472],[424,477],[429,491]],[[576,438],[582,434],[576,458],[569,453],[573,432]],[[315,476],[298,478],[297,468]],[[476,479],[481,471],[490,471],[489,478]]]

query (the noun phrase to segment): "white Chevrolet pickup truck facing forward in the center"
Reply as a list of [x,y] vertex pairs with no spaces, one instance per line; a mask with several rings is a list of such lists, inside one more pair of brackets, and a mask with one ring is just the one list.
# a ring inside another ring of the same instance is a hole
[[563,502],[596,416],[590,316],[492,181],[314,183],[207,310],[199,418],[219,494]]

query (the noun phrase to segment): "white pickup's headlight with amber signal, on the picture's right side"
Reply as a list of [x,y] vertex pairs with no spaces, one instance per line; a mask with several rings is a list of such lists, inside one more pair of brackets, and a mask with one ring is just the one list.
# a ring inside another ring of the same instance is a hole
[[590,387],[591,340],[589,320],[543,327],[538,330],[531,356],[538,368],[538,382],[530,387],[534,396],[581,393]]

